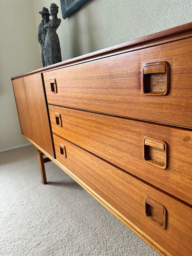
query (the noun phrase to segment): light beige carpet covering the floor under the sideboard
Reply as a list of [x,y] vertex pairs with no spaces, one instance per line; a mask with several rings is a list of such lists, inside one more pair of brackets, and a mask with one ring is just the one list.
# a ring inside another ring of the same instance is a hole
[[1,256],[158,256],[36,148],[0,153]]

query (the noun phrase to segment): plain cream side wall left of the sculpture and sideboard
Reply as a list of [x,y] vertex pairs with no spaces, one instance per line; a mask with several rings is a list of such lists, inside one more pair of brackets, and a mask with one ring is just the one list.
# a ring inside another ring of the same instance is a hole
[[0,0],[0,150],[28,143],[21,135],[11,77],[41,67],[34,3]]

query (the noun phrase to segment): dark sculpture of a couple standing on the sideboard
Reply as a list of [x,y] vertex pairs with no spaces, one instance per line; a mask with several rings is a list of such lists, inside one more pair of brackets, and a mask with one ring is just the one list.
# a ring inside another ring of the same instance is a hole
[[[38,41],[41,44],[43,67],[62,61],[59,37],[56,33],[57,28],[61,24],[61,19],[57,18],[58,8],[57,4],[51,3],[50,13],[45,7],[39,12],[42,15],[42,21],[39,24]],[[52,20],[49,19],[50,15]]]

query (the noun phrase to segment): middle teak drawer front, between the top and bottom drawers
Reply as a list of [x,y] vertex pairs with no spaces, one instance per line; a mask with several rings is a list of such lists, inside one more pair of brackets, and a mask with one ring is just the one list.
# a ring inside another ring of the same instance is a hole
[[52,105],[49,112],[53,133],[192,204],[192,131]]

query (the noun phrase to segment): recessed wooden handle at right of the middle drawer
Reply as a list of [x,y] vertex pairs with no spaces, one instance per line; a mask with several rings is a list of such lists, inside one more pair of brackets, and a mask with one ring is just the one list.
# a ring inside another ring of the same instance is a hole
[[143,140],[144,160],[162,169],[167,168],[167,143],[152,137],[144,137]]

